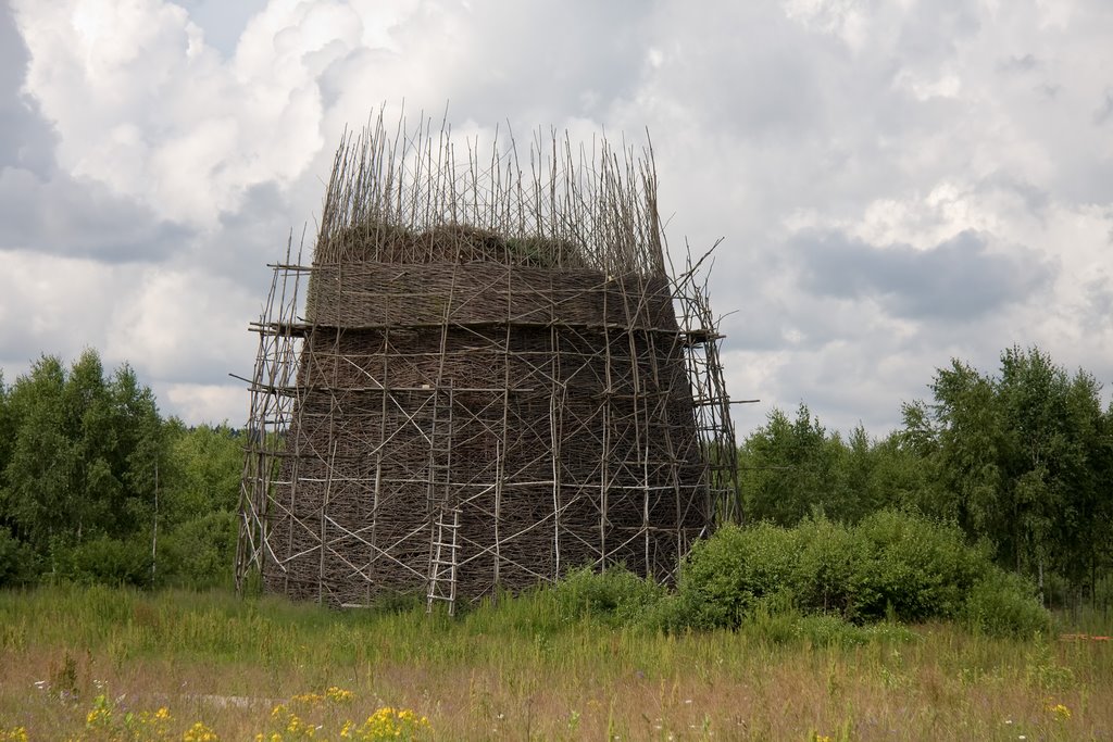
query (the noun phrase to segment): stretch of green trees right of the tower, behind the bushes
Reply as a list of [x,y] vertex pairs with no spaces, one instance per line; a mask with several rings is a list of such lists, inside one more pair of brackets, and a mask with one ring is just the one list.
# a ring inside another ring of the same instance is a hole
[[1113,600],[1113,405],[1101,385],[1038,348],[993,374],[952,360],[929,399],[875,439],[779,409],[739,449],[748,521],[857,523],[883,508],[958,525],[1054,602]]

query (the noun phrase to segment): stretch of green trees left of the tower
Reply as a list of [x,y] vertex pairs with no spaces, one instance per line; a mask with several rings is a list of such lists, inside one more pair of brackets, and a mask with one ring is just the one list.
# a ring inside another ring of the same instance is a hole
[[164,419],[95,350],[0,376],[0,585],[229,582],[242,446],[226,425]]

